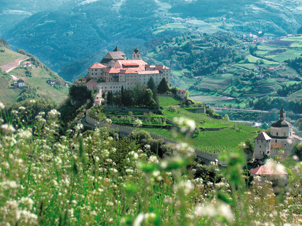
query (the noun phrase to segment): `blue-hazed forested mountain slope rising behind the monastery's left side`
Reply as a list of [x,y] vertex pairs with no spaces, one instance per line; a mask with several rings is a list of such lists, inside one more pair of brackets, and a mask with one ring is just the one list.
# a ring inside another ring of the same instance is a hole
[[[11,45],[34,53],[59,71],[64,65],[99,49],[111,49],[115,44],[121,49],[143,44],[152,36],[155,24],[166,23],[155,15],[123,16],[108,1],[76,4],[72,8],[70,4],[32,15],[8,31],[5,37]],[[64,78],[70,80],[71,76]]]

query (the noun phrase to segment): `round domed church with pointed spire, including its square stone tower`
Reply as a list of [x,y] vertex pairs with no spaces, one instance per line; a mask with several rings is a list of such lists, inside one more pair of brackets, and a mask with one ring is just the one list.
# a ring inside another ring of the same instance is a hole
[[282,148],[286,157],[291,154],[295,145],[302,143],[302,137],[299,137],[293,131],[293,126],[285,120],[286,113],[283,105],[279,111],[279,120],[271,124],[271,134],[268,136],[262,132],[255,138],[255,161],[261,161],[265,155],[273,157],[276,154],[275,149],[271,149],[271,143],[275,143],[278,148]]

